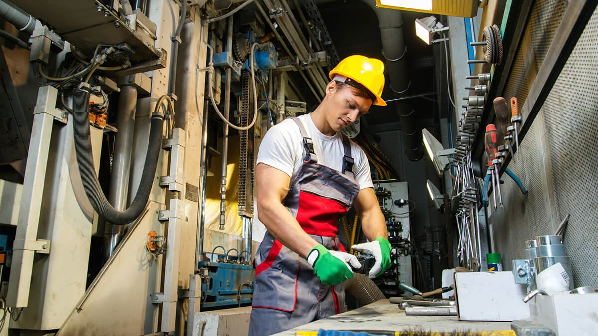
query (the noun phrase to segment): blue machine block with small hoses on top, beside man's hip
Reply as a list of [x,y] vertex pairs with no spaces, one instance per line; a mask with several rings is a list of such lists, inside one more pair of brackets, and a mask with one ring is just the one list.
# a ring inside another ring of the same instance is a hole
[[202,261],[199,267],[208,269],[202,282],[202,308],[251,303],[255,278],[251,265]]

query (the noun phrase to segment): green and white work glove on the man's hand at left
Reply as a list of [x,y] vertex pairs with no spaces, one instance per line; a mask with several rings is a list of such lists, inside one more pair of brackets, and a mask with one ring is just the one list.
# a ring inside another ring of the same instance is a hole
[[318,244],[307,255],[307,262],[313,267],[313,273],[320,277],[324,285],[336,285],[353,277],[351,264],[355,268],[361,263],[354,255],[339,251],[328,251],[323,245]]

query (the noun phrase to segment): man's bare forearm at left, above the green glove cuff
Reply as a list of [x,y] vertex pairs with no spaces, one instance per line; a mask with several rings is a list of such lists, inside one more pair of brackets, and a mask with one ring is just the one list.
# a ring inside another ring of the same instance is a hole
[[260,221],[282,245],[304,258],[307,257],[318,242],[303,231],[297,219],[285,206],[277,202],[272,203],[258,207]]

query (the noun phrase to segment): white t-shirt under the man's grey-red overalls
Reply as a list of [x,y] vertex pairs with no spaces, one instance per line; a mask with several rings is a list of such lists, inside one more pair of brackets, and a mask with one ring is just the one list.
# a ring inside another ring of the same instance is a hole
[[[318,155],[318,163],[332,169],[343,170],[343,138],[337,132],[334,136],[322,134],[312,121],[309,114],[298,117],[303,123],[307,134],[313,140],[313,147]],[[274,167],[291,177],[290,183],[303,166],[303,136],[294,121],[287,119],[275,125],[266,132],[261,141],[256,164],[264,163]],[[364,151],[351,141],[351,155],[355,164],[353,175],[359,183],[359,190],[374,187],[370,175],[370,164]],[[290,187],[290,185],[289,185]]]

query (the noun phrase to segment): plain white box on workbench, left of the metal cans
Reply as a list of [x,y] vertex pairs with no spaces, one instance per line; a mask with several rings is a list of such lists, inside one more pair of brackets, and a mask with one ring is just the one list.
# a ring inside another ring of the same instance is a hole
[[512,321],[530,316],[523,302],[526,286],[515,283],[511,271],[455,273],[459,319]]

